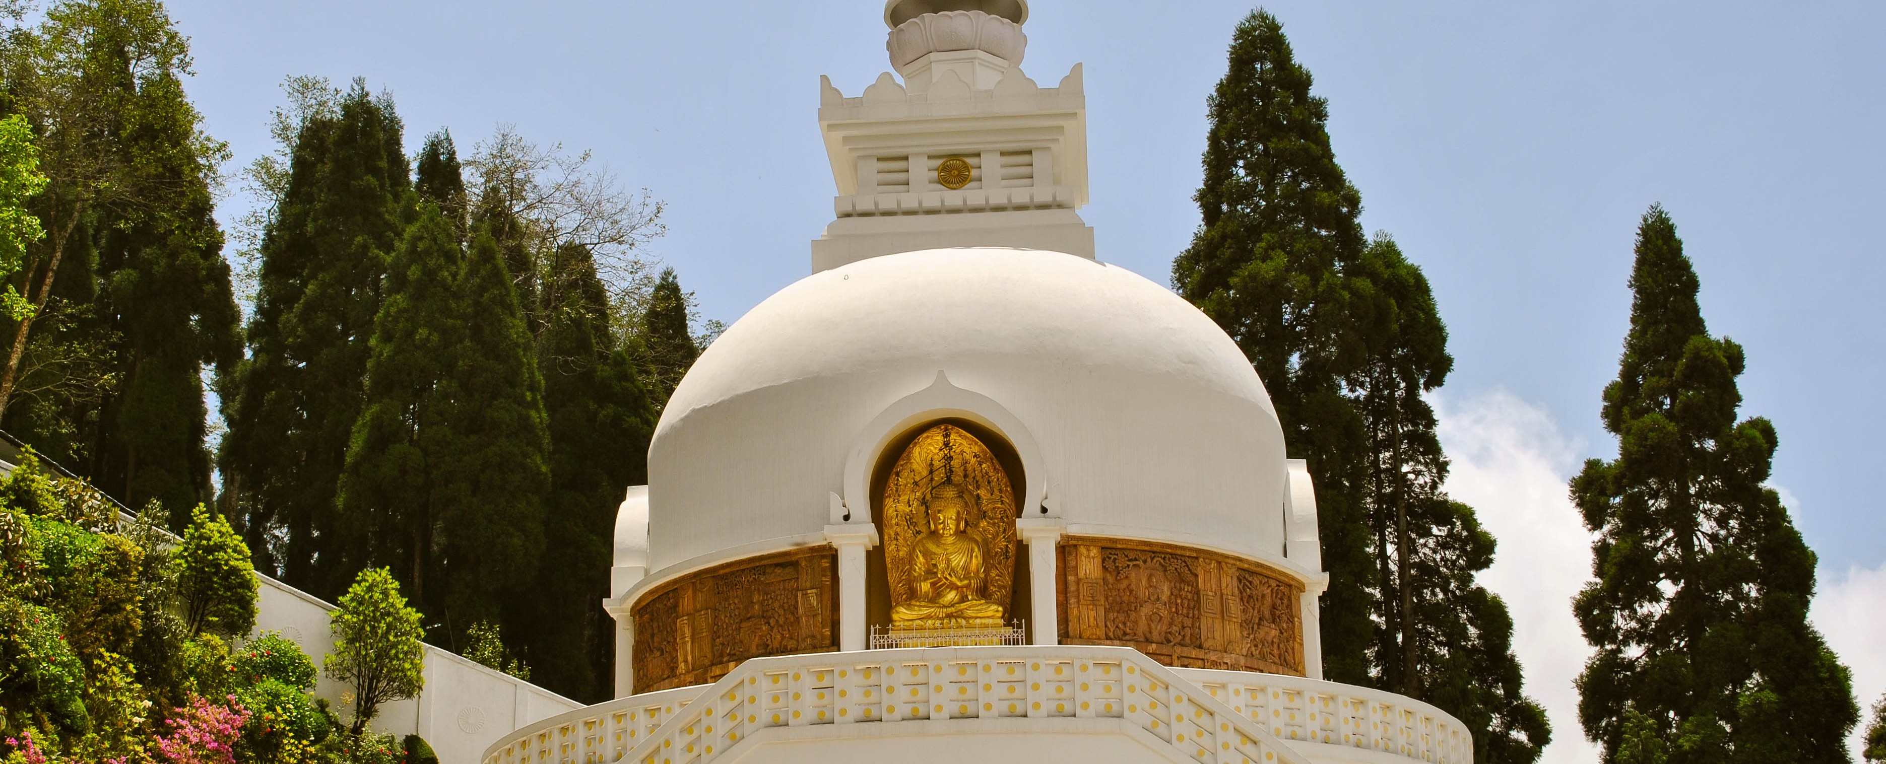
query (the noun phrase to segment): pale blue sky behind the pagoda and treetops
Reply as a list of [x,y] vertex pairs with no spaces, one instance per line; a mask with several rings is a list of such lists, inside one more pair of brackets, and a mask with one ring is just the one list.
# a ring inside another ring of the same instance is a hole
[[[1032,2],[1024,70],[1051,85],[1086,66],[1083,215],[1100,258],[1167,279],[1198,224],[1205,96],[1250,8]],[[1611,455],[1599,390],[1616,374],[1637,217],[1662,202],[1711,328],[1748,349],[1745,413],[1780,430],[1775,483],[1822,570],[1886,566],[1886,6],[1267,8],[1330,100],[1365,228],[1394,234],[1433,283],[1456,358],[1448,400],[1541,411],[1569,449],[1560,472]],[[411,145],[451,126],[470,147],[515,123],[594,149],[668,202],[670,236],[651,251],[728,323],[803,277],[832,219],[819,75],[858,94],[888,68],[873,0],[179,0],[172,13],[232,170],[272,149],[285,75],[364,75],[394,92]],[[243,204],[228,198],[224,221]]]

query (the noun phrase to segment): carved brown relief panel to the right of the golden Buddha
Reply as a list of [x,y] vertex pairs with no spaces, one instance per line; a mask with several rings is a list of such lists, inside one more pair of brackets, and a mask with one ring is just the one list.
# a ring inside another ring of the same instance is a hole
[[1064,645],[1133,647],[1167,666],[1303,675],[1303,587],[1264,564],[1171,543],[1067,536]]

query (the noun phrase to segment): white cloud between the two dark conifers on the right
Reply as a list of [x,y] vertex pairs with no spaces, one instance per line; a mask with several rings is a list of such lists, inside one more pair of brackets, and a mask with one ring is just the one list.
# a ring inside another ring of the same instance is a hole
[[1505,598],[1526,692],[1552,721],[1552,743],[1539,760],[1596,762],[1573,687],[1590,655],[1571,617],[1571,598],[1592,570],[1592,536],[1567,496],[1582,443],[1569,441],[1545,409],[1507,390],[1460,400],[1433,394],[1430,402],[1454,462],[1447,490],[1473,506],[1499,540],[1481,583]]

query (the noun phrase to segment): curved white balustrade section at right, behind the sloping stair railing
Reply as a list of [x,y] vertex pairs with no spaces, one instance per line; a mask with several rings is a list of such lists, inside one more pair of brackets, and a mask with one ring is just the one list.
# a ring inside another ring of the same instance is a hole
[[1286,743],[1345,745],[1431,764],[1473,762],[1473,734],[1460,719],[1401,694],[1277,673],[1175,673]]

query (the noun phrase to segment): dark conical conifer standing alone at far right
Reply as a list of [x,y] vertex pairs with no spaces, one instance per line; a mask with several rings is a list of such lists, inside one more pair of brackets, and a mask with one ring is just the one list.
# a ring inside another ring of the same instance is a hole
[[[1846,762],[1846,668],[1807,623],[1814,553],[1763,481],[1775,424],[1735,421],[1743,347],[1709,334],[1677,224],[1637,228],[1631,328],[1605,387],[1618,458],[1571,481],[1596,581],[1573,609],[1594,655],[1584,734],[1618,760],[1631,709],[1669,762]],[[1643,738],[1641,732],[1635,734]]]

